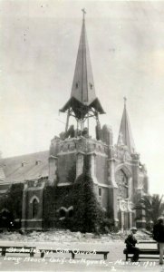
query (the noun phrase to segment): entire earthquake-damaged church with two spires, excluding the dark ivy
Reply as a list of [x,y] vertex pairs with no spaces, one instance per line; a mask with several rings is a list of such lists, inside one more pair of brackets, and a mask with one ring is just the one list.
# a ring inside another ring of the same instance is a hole
[[[0,201],[13,185],[22,184],[20,220],[21,228],[25,230],[44,228],[44,190],[47,186],[52,190],[69,190],[83,173],[85,160],[88,161],[94,194],[114,224],[122,230],[134,225],[145,228],[143,219],[135,220],[133,207],[144,193],[148,193],[149,180],[147,170],[140,162],[140,154],[135,149],[126,98],[118,141],[114,144],[111,127],[101,127],[99,119],[100,114],[106,113],[95,92],[85,11],[82,10],[82,13],[82,32],[71,97],[60,110],[67,114],[65,131],[60,136],[54,136],[49,151],[0,160]],[[95,122],[95,139],[90,135],[91,121]],[[71,173],[74,173],[73,179],[68,178]],[[57,209],[60,206],[64,209],[64,198]],[[1,214],[6,211],[6,207],[1,207]]]

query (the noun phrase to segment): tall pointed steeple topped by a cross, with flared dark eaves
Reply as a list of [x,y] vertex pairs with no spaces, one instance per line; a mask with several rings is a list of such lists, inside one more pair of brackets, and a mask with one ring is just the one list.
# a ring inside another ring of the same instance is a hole
[[95,93],[92,64],[85,29],[86,12],[84,9],[82,9],[82,13],[82,32],[72,81],[71,98],[60,110],[60,112],[68,111],[68,115],[74,116],[77,121],[98,116],[98,113],[105,113]]

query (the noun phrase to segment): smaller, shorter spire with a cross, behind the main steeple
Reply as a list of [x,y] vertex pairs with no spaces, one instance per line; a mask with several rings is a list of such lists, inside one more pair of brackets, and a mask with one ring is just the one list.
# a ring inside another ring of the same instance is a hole
[[130,151],[130,153],[135,152],[135,144],[132,137],[131,129],[130,129],[130,120],[126,108],[127,98],[124,97],[124,109],[121,118],[121,127],[119,131],[118,144],[126,145]]

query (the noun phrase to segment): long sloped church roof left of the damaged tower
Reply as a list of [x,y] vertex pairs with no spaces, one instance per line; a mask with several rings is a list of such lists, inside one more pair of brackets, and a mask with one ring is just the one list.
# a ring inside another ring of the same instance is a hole
[[[49,151],[41,151],[0,160],[5,183],[38,180],[48,176]],[[36,162],[37,161],[37,162]]]

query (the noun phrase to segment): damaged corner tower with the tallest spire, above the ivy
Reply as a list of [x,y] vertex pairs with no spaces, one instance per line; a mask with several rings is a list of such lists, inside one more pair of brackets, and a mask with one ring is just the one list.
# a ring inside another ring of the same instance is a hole
[[[101,207],[108,211],[112,194],[109,192],[112,131],[106,125],[101,129],[99,121],[99,115],[105,112],[95,92],[85,16],[82,9],[82,31],[71,97],[60,110],[67,113],[67,121],[65,131],[51,142],[49,184],[56,188],[70,188],[78,177],[86,174],[92,178],[93,193]],[[90,137],[90,120],[95,121],[96,139]]]

